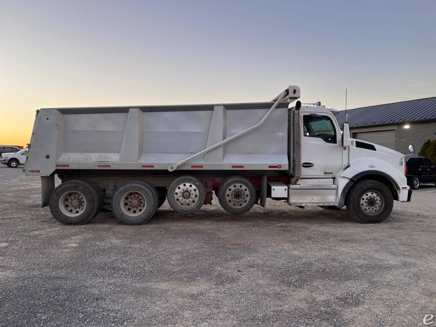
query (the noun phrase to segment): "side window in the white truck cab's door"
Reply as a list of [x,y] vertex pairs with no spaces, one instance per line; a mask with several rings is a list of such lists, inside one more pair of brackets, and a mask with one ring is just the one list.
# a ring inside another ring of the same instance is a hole
[[333,122],[327,116],[305,115],[303,116],[304,136],[318,137],[327,143],[336,143],[336,129]]

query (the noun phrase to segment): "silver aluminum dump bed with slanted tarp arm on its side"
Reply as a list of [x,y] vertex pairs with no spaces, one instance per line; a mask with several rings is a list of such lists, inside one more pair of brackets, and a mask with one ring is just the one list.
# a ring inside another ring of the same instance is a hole
[[275,102],[40,109],[26,175],[56,169],[288,170],[288,106],[300,89],[290,91]]

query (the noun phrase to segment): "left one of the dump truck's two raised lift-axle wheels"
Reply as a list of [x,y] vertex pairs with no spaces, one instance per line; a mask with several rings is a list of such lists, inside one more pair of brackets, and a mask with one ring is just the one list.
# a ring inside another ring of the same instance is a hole
[[168,187],[167,200],[171,208],[182,214],[192,214],[204,204],[204,185],[192,176],[181,176]]

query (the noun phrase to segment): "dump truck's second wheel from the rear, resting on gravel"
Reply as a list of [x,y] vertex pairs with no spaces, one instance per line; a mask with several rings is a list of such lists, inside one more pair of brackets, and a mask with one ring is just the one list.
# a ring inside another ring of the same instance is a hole
[[142,181],[127,182],[112,197],[112,213],[124,225],[142,225],[156,212],[156,188]]

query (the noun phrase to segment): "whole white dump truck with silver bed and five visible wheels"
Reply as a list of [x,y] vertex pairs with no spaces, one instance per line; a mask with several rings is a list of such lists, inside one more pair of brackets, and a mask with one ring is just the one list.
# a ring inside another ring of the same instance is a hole
[[351,139],[347,124],[341,134],[337,110],[299,98],[292,85],[271,102],[40,109],[24,171],[41,176],[42,206],[65,225],[102,206],[140,225],[165,199],[191,214],[213,193],[232,214],[271,198],[345,205],[362,223],[410,201],[404,155]]

